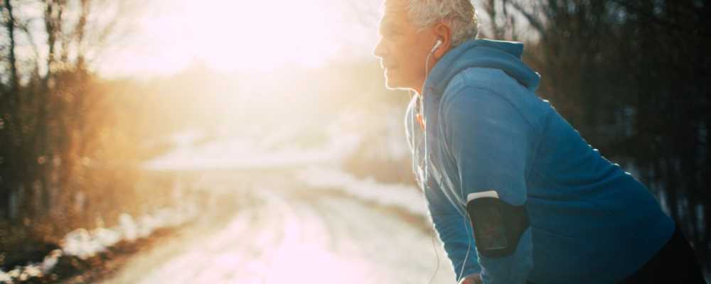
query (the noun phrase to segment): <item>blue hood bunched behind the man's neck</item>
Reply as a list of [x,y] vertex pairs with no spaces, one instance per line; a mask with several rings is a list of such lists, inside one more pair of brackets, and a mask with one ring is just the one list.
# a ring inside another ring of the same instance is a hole
[[470,67],[494,68],[505,72],[531,91],[538,89],[540,75],[521,61],[523,43],[475,39],[449,50],[427,76],[424,89],[440,96],[449,81]]

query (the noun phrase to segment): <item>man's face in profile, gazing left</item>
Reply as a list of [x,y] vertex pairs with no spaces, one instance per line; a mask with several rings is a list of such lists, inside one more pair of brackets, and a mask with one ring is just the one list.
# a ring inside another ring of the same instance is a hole
[[385,70],[386,87],[420,91],[424,84],[424,61],[436,39],[429,29],[418,30],[407,15],[407,0],[385,1],[380,42],[373,55]]

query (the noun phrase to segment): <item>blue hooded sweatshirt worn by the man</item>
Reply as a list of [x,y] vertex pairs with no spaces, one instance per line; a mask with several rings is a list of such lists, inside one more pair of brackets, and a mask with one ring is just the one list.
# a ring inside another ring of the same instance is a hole
[[[418,177],[434,228],[457,279],[616,283],[654,256],[675,224],[644,185],[535,95],[540,77],[522,52],[520,43],[469,40],[427,77],[424,143],[411,146],[424,160]],[[414,113],[411,104],[407,131],[417,141]],[[487,190],[528,209],[530,227],[511,256],[476,253],[465,198]]]

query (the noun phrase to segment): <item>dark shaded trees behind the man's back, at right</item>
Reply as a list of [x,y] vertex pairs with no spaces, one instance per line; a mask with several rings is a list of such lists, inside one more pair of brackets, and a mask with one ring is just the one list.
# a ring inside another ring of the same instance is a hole
[[483,36],[529,43],[525,60],[542,75],[538,94],[650,186],[709,268],[711,5],[483,2]]

